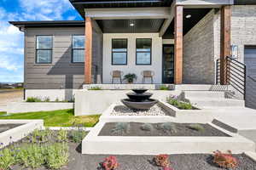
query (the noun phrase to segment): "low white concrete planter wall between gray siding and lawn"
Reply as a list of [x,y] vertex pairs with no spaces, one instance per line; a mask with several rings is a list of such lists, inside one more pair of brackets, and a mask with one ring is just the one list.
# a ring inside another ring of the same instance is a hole
[[62,102],[15,102],[7,105],[7,113],[26,113],[34,111],[55,111],[73,109],[73,103]]

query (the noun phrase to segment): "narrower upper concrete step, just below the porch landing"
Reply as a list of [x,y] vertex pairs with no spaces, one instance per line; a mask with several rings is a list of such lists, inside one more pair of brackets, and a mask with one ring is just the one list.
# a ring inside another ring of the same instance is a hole
[[225,92],[219,91],[184,91],[184,97],[189,98],[217,98],[224,99]]

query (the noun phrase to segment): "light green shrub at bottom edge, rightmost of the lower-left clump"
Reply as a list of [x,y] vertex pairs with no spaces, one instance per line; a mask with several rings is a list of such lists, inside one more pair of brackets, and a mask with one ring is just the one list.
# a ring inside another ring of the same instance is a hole
[[50,169],[60,169],[68,162],[68,145],[55,143],[46,146],[45,163]]

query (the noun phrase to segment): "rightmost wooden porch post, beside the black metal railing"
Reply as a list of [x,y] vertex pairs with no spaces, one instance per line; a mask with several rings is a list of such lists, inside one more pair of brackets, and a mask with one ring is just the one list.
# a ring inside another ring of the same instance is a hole
[[226,77],[226,56],[230,56],[231,6],[221,8],[220,26],[220,84],[228,83]]

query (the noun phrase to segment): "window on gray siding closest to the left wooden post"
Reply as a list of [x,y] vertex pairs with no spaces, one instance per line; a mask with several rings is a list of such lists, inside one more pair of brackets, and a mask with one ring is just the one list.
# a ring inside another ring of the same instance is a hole
[[72,62],[84,62],[84,36],[72,37]]

